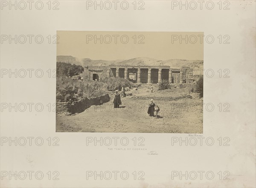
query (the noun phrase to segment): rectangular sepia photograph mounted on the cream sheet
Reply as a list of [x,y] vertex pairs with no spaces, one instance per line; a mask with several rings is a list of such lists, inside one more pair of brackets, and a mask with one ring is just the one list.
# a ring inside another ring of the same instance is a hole
[[203,133],[203,32],[57,35],[56,132]]

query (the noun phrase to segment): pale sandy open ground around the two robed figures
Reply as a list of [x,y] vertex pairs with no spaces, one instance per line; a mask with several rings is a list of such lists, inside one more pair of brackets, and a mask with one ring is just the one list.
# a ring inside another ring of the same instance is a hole
[[[56,114],[56,132],[127,132],[127,133],[203,133],[203,99],[183,98],[187,88],[148,92],[142,85],[133,96],[122,97],[121,108],[110,102],[93,105],[80,114]],[[157,88],[155,86],[155,88]],[[160,107],[158,118],[147,114],[148,102],[154,99]]]

